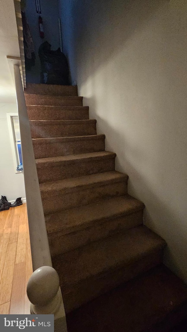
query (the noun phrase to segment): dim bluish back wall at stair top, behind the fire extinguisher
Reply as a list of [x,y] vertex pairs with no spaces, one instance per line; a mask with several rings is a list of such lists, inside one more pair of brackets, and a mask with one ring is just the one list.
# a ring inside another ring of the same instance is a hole
[[44,26],[44,39],[40,38],[39,34],[39,14],[36,12],[35,0],[27,0],[26,2],[26,17],[27,23],[30,27],[31,36],[35,45],[36,62],[31,71],[26,71],[27,82],[40,83],[40,58],[38,56],[38,50],[40,45],[44,41],[48,41],[51,44],[51,49],[55,50],[60,47],[60,37],[58,29],[58,0],[40,0],[41,4],[41,17]]

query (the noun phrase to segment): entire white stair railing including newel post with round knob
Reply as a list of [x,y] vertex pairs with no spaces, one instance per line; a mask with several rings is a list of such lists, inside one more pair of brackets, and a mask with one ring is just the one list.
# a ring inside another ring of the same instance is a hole
[[27,285],[32,314],[54,314],[55,332],[67,332],[59,277],[52,268],[29,118],[19,65],[14,65],[33,274]]

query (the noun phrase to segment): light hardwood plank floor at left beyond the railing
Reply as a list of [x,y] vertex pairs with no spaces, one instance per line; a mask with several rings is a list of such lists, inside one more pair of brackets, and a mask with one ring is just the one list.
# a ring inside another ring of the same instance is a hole
[[29,314],[32,274],[27,206],[0,212],[0,314]]

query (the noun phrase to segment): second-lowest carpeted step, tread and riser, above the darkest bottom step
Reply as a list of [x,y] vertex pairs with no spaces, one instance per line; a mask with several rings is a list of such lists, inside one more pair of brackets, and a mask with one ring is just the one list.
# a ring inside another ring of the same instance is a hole
[[159,236],[139,226],[53,257],[65,311],[159,265],[164,246]]

